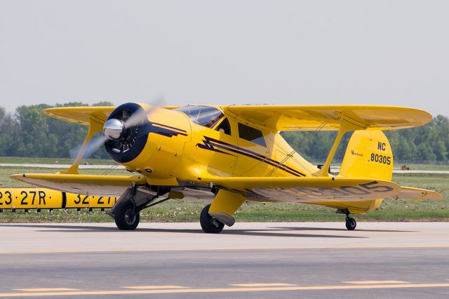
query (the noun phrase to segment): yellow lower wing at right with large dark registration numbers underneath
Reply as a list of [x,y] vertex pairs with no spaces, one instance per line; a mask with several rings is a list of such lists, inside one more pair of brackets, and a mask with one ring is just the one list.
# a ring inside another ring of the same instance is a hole
[[367,201],[394,197],[401,191],[394,182],[371,178],[216,177],[201,180],[257,201]]

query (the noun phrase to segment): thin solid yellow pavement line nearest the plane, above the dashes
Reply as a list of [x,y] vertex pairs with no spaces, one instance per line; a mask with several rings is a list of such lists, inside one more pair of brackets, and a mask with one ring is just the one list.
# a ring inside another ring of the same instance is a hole
[[81,249],[42,251],[0,251],[0,254],[30,253],[114,253],[114,252],[160,252],[160,251],[250,251],[250,250],[304,250],[304,249],[369,249],[369,248],[449,248],[448,245],[367,245],[367,246],[311,246],[311,247],[228,247],[228,248],[142,248],[142,249]]

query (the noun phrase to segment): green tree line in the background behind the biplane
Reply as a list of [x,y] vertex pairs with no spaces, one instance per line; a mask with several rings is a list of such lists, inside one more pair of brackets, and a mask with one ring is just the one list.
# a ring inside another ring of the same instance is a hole
[[[88,106],[82,102],[57,104],[55,107]],[[112,106],[111,102],[98,102],[93,106]],[[47,117],[41,109],[54,106],[24,105],[15,113],[6,113],[0,107],[0,156],[68,158],[76,155],[87,133],[86,126]],[[384,131],[398,163],[449,162],[449,120],[438,115],[429,124],[418,128]],[[290,131],[282,132],[287,142],[309,161],[326,160],[335,138],[335,132]],[[350,133],[344,135],[334,161],[342,161]],[[91,155],[107,159],[103,148]]]

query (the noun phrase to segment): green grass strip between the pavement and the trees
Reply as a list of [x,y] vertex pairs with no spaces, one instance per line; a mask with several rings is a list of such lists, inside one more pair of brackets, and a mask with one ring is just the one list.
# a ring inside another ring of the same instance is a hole
[[[58,169],[0,167],[0,187],[19,187],[25,184],[11,180],[13,173],[55,173]],[[102,170],[84,170],[82,173],[100,174]],[[129,174],[113,171],[111,174]],[[359,221],[449,221],[449,174],[394,174],[394,182],[410,187],[420,187],[441,192],[442,201],[420,201],[414,203],[403,199],[386,199],[376,211],[356,215]],[[142,211],[143,222],[196,222],[206,203],[189,201],[166,201]],[[243,204],[236,212],[237,221],[257,222],[301,222],[301,221],[343,221],[344,215],[335,214],[335,209],[307,204]],[[105,213],[87,209],[49,211],[5,211],[0,222],[112,222]]]

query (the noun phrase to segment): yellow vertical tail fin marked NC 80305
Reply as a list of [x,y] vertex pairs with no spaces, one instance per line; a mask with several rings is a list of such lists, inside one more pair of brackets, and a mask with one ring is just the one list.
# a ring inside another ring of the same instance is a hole
[[344,154],[340,175],[391,180],[393,152],[382,131],[355,131]]

